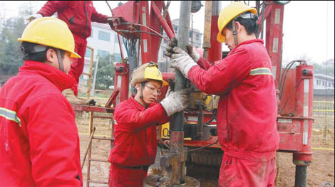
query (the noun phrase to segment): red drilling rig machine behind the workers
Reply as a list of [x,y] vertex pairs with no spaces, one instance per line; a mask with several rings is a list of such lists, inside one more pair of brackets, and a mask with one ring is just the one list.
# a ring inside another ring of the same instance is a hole
[[[259,37],[266,41],[277,88],[277,129],[280,139],[278,151],[293,154],[293,163],[296,165],[295,186],[306,186],[306,171],[311,164],[312,154],[314,68],[304,60],[294,60],[282,67],[284,6],[288,2],[256,1],[255,8],[259,14]],[[180,2],[177,39],[178,47],[184,50],[189,43],[190,14],[200,8],[201,1]],[[108,23],[118,33],[119,41],[122,41],[121,37],[125,41],[128,58],[125,58],[119,42],[122,61],[115,65],[114,90],[105,107],[90,108],[96,112],[113,112],[115,105],[127,100],[130,95],[130,74],[133,70],[140,63],[157,62],[161,41],[170,41],[176,36],[165,1],[150,1],[150,4],[149,1],[128,1],[110,10],[112,17],[108,18]],[[225,58],[229,53],[222,52],[222,43],[216,40],[220,11],[220,1],[205,1],[204,40],[200,53],[210,63]],[[168,38],[163,36],[163,31]],[[173,81],[175,90],[192,87],[192,102],[186,111],[173,114],[170,124],[160,127],[161,138],[170,140],[170,148],[163,150],[158,158],[162,173],[148,176],[144,186],[200,186],[195,178],[186,176],[186,165],[187,162],[213,166],[221,164],[224,152],[217,141],[218,96],[200,92],[177,70],[175,73],[163,73],[163,79]],[[166,91],[167,88],[163,90]],[[158,102],[163,100],[164,95]]]

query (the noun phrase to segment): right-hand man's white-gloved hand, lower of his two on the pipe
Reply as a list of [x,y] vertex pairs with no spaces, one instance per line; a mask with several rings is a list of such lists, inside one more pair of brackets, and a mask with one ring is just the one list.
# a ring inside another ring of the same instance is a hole
[[197,63],[188,55],[185,50],[182,50],[181,48],[175,47],[173,48],[174,54],[171,55],[172,58],[172,67],[177,68],[177,70],[180,70],[180,73],[185,78],[188,78],[187,73],[188,71]]

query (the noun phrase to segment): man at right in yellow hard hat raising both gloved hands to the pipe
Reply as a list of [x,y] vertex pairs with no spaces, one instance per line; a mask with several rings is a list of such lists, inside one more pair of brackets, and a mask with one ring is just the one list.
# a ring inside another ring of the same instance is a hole
[[219,186],[274,186],[277,99],[272,63],[257,39],[257,11],[242,2],[222,9],[217,41],[230,53],[214,65],[169,43],[166,55],[203,92],[219,95],[217,134],[224,151]]

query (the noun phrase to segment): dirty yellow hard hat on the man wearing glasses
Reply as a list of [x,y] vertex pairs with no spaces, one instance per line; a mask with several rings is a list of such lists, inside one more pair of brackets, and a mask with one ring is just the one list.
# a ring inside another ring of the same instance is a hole
[[163,86],[169,85],[168,82],[163,80],[163,75],[158,70],[157,63],[145,63],[143,65],[138,66],[131,75],[131,85],[135,86],[136,83],[145,82],[148,80],[158,80],[162,82]]

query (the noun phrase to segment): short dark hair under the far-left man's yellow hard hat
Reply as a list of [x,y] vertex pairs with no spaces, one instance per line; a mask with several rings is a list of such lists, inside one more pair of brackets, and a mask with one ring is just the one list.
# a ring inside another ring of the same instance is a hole
[[[56,48],[46,46],[45,50],[35,52],[34,50],[35,46],[38,46],[38,44],[30,43],[26,41],[21,43],[21,50],[24,53],[24,60],[34,60],[34,61],[44,63],[46,61],[46,51],[48,51],[48,49],[50,48],[56,51]],[[65,51],[61,50],[62,59],[64,58],[64,55],[65,55]]]

